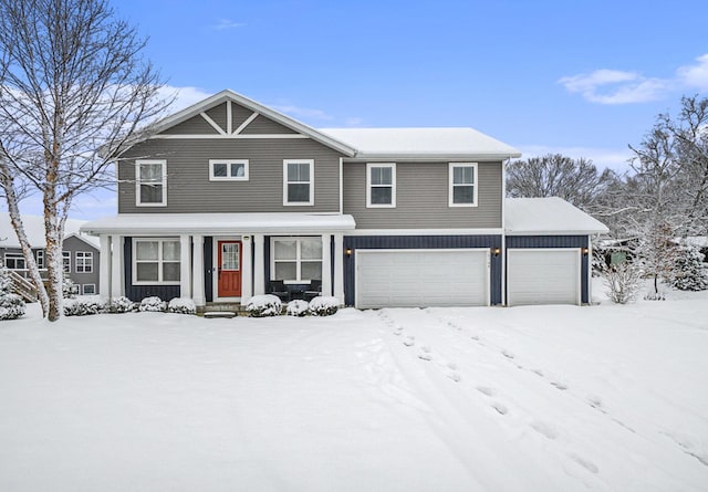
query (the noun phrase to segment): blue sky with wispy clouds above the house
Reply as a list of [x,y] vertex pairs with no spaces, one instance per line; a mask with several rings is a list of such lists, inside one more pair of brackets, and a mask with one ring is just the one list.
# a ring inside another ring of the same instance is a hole
[[[314,127],[471,126],[622,170],[658,113],[708,95],[705,0],[113,4],[175,109],[231,88]],[[105,213],[91,200],[76,217]]]

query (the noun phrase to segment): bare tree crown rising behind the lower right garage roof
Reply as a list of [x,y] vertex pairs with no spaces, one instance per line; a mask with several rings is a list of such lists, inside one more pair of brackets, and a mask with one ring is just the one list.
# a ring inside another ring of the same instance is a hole
[[510,197],[560,197],[584,210],[591,208],[613,172],[602,174],[592,160],[548,154],[517,160],[507,167]]

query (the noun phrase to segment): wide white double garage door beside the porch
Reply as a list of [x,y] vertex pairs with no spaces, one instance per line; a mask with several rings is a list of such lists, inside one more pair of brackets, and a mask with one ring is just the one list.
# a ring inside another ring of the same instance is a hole
[[355,304],[489,305],[489,249],[358,250]]

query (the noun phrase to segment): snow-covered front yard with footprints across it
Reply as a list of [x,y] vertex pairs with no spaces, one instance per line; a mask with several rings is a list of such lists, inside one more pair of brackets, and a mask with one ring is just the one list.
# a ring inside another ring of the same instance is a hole
[[[671,293],[674,294],[674,293]],[[708,293],[0,323],[2,491],[706,491]]]

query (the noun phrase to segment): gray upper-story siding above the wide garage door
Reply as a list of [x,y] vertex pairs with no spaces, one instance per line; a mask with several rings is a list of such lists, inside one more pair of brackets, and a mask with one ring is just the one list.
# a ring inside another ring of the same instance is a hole
[[479,163],[478,207],[449,207],[448,163],[396,163],[396,207],[366,208],[366,164],[344,164],[344,213],[358,229],[501,227],[501,163]]

